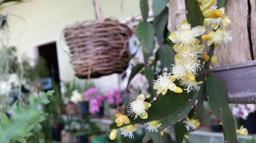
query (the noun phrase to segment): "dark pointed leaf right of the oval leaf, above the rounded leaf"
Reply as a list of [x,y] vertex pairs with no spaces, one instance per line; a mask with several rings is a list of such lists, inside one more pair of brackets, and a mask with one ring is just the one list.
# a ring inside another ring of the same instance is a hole
[[155,36],[159,45],[164,42],[164,30],[166,29],[166,24],[168,20],[168,8],[166,7],[162,13],[154,17],[153,27],[155,28]]

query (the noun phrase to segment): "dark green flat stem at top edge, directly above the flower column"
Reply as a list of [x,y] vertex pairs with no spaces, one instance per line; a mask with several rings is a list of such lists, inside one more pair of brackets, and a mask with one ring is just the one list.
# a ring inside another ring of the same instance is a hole
[[191,24],[191,27],[199,26],[203,24],[204,16],[200,10],[200,4],[197,0],[186,0],[186,19]]

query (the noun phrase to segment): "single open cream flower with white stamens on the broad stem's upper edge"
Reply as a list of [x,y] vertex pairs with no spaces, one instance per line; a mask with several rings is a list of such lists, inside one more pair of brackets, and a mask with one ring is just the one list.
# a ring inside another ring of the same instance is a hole
[[[135,115],[134,119],[136,119],[138,116],[141,119],[147,119],[148,113],[146,110],[151,106],[150,103],[144,102],[145,96],[141,93],[135,100],[132,99],[132,102],[129,102],[128,105],[128,113],[134,113]],[[133,116],[132,115],[132,116]]]

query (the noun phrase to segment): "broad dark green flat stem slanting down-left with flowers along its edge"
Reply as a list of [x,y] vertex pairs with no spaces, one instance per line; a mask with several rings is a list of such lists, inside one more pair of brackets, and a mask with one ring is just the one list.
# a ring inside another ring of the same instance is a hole
[[[179,81],[175,81],[175,84],[178,85],[178,82]],[[189,111],[191,110],[191,106],[193,105],[194,98],[197,98],[198,93],[199,91],[192,91],[189,94],[186,93],[186,91],[183,93],[174,93],[173,91],[168,90],[165,95],[159,94],[155,97],[156,100],[150,102],[151,106],[148,108],[147,111],[148,118],[141,119],[138,117],[134,120],[134,116],[132,116],[133,113],[130,113],[128,115],[128,118],[130,119],[130,124],[138,124],[158,120],[168,117],[169,115],[173,115],[173,117],[171,116],[170,120],[172,121],[172,123],[176,123],[177,121],[180,121],[184,117],[186,117],[186,115],[189,113]],[[189,102],[191,98],[193,99],[191,100],[191,102]],[[184,109],[184,107],[187,107],[188,112],[185,115],[181,116],[180,114],[184,113],[184,111],[181,111]],[[117,128],[119,127],[117,127],[117,124],[115,122],[109,125],[110,130]],[[164,128],[161,127],[161,129]]]

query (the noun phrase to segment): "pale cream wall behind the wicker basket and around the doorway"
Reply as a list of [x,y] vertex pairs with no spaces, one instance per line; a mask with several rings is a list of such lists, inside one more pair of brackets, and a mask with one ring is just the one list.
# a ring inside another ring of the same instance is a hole
[[[104,18],[124,18],[140,13],[139,0],[124,0],[124,13],[121,12],[122,0],[99,0]],[[27,54],[34,58],[33,46],[56,39],[59,42],[63,29],[75,22],[94,20],[92,0],[34,0],[24,4],[9,6],[4,13],[19,15],[25,19],[11,16],[10,42],[16,45],[18,54]],[[65,52],[63,40],[58,43],[58,58],[61,80],[72,80],[74,71],[70,58]]]

